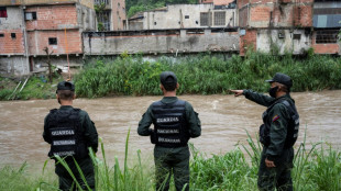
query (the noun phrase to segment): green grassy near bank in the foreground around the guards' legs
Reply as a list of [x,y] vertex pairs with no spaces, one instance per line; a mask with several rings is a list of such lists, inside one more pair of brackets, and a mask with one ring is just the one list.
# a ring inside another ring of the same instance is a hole
[[[190,190],[245,190],[256,189],[256,172],[261,146],[249,136],[249,145],[239,145],[224,155],[207,157],[191,146]],[[306,149],[306,141],[296,148],[293,181],[299,191],[337,191],[341,190],[341,151],[332,149],[328,144],[314,144]],[[101,144],[102,156],[91,155],[96,166],[97,190],[155,190],[153,161],[142,161],[138,150],[136,160],[128,164],[129,135],[125,143],[124,162],[118,158],[112,167],[106,161],[106,151]],[[246,150],[249,156],[243,154]],[[13,169],[4,167],[0,170],[0,190],[57,190],[56,177],[52,171],[37,177],[26,173],[25,164]],[[45,167],[44,167],[45,168]],[[51,169],[52,170],[52,169]],[[48,170],[47,170],[48,171]],[[172,184],[174,188],[174,183]]]

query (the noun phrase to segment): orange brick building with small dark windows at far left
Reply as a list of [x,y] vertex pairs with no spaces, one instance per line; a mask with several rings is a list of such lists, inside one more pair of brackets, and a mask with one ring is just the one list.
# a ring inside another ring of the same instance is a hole
[[81,33],[96,30],[92,0],[1,0],[0,10],[7,13],[0,18],[3,76],[40,70],[46,65],[45,47],[55,65],[67,66],[66,55],[70,63],[80,63]]

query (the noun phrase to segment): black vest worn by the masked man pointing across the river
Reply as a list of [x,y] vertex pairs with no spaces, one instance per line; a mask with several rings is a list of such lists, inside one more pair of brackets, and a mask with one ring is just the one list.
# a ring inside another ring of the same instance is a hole
[[268,106],[268,109],[263,113],[264,124],[262,124],[260,127],[260,142],[264,146],[268,146],[271,143],[271,137],[270,137],[270,125],[271,124],[268,124],[267,117],[268,117],[268,112],[277,103],[283,103],[289,111],[290,120],[288,122],[287,135],[286,135],[285,144],[284,144],[284,148],[289,148],[296,143],[297,137],[298,137],[299,115],[298,115],[295,104],[290,104],[285,99],[277,100],[271,106]]

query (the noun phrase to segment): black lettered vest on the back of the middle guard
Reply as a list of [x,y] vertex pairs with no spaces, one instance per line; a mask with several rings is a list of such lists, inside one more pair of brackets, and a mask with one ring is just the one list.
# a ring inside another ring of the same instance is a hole
[[154,139],[157,146],[187,146],[189,132],[185,119],[185,101],[177,100],[174,103],[157,101],[152,104],[152,112],[155,117]]

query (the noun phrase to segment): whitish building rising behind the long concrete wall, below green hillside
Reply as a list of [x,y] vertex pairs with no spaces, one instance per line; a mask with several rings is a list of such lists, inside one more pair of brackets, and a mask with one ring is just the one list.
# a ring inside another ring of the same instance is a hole
[[235,27],[237,9],[229,5],[172,4],[129,19],[128,30]]

